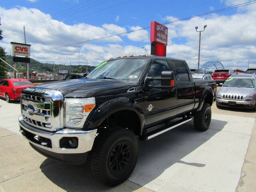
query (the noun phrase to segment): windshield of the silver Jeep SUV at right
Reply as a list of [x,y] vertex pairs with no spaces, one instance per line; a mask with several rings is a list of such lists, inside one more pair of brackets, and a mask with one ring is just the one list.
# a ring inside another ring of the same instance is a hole
[[254,79],[227,79],[223,84],[223,87],[246,87],[246,88],[254,88],[255,82]]

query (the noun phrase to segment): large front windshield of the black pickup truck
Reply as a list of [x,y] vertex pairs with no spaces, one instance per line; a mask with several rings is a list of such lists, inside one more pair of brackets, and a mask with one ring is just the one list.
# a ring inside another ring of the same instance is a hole
[[105,61],[97,66],[86,78],[106,78],[138,81],[148,63],[146,58],[127,58]]

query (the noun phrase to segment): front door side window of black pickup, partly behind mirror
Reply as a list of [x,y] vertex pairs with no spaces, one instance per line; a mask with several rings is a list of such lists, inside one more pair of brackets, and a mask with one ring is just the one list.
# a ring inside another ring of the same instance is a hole
[[[168,62],[165,60],[155,60],[150,66],[147,77],[161,78],[162,71],[170,71]],[[149,82],[149,84],[160,86],[161,82],[155,80],[155,81]]]

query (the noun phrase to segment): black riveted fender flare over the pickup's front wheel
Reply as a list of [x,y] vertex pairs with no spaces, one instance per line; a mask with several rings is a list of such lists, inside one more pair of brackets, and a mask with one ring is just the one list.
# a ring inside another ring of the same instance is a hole
[[85,129],[95,129],[111,114],[121,111],[131,110],[135,112],[140,120],[140,134],[145,124],[145,116],[140,105],[130,100],[129,98],[115,98],[108,100],[98,106],[94,112],[89,116],[88,120],[84,124]]

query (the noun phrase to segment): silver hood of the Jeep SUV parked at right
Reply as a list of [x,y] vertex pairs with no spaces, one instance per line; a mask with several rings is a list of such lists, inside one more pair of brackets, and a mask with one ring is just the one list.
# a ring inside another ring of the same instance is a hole
[[221,87],[218,91],[221,95],[240,95],[240,96],[247,96],[250,94],[255,93],[255,88],[245,88],[245,87]]

